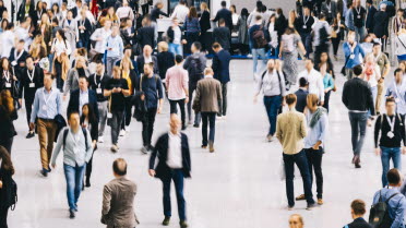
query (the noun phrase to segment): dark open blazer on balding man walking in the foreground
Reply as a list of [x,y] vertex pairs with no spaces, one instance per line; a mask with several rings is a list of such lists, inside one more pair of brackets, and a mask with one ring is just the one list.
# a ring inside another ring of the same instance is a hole
[[[180,133],[180,144],[182,149],[182,171],[184,178],[190,178],[191,161],[190,161],[190,149],[188,136]],[[155,178],[167,179],[171,178],[171,169],[166,164],[169,148],[169,135],[168,133],[163,134],[156,141],[153,153],[150,157],[150,169],[154,169],[156,175]],[[155,158],[158,157],[158,165],[155,167]]]

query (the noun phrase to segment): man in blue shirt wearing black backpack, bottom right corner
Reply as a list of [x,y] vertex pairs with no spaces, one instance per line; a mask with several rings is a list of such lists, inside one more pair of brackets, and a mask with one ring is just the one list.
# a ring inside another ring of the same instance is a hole
[[386,175],[389,185],[378,191],[369,213],[369,224],[374,228],[403,228],[406,211],[406,199],[398,188],[402,184],[397,169],[391,169]]

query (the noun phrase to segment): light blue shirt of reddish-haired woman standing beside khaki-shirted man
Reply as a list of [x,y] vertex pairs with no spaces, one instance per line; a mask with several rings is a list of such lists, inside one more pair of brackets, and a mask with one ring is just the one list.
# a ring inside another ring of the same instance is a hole
[[329,117],[327,113],[323,113],[319,121],[315,123],[313,128],[310,128],[310,121],[311,118],[313,118],[314,113],[311,113],[309,110],[306,115],[306,119],[308,122],[308,135],[304,137],[304,148],[311,148],[313,145],[321,141],[322,144],[320,144],[321,147],[324,148],[325,145],[325,135],[329,127]]

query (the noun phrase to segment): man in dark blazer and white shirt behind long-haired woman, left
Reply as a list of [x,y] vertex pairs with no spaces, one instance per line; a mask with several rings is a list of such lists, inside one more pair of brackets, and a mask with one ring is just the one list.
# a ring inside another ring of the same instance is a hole
[[79,89],[71,93],[68,104],[68,116],[70,112],[75,111],[82,116],[82,107],[89,104],[96,119],[98,120],[97,96],[92,89],[88,89],[88,81],[85,75],[79,76]]

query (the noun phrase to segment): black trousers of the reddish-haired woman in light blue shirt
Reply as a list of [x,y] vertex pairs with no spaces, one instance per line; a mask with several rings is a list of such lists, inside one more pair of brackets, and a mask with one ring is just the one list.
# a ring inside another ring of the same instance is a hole
[[306,157],[308,158],[308,164],[309,164],[311,185],[313,185],[313,169],[314,169],[318,199],[323,199],[323,172],[321,168],[322,158],[323,158],[323,149],[320,147],[319,151],[315,151],[313,148],[307,148],[304,151],[306,151]]

